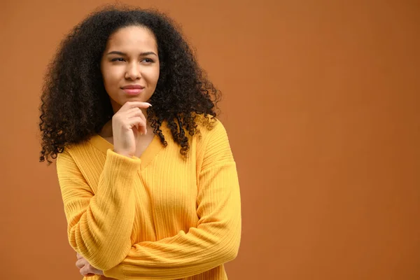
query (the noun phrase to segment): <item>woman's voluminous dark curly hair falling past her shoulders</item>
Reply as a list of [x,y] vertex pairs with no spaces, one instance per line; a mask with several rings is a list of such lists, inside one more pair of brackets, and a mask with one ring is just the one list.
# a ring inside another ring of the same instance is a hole
[[[113,109],[106,93],[100,60],[109,36],[120,28],[142,26],[155,34],[160,77],[147,109],[153,133],[167,146],[162,122],[186,157],[188,134],[200,132],[197,121],[210,128],[216,119],[221,92],[197,64],[193,50],[176,23],[158,10],[111,5],[95,10],[59,45],[48,65],[41,95],[40,162],[57,158],[69,144],[78,144],[99,133],[111,120]],[[188,132],[188,134],[186,133]]]

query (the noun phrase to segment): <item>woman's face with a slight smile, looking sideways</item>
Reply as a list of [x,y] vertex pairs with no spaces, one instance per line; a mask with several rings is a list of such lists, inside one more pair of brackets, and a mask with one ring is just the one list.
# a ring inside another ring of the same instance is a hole
[[145,27],[123,27],[106,43],[101,72],[114,113],[128,101],[147,102],[159,78],[158,45]]

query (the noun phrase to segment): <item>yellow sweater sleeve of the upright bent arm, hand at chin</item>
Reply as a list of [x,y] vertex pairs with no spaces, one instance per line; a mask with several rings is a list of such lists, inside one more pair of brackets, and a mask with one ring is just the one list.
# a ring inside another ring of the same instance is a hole
[[93,193],[71,153],[64,150],[57,156],[69,243],[93,267],[115,267],[130,251],[135,209],[133,181],[139,165],[138,158],[108,150]]

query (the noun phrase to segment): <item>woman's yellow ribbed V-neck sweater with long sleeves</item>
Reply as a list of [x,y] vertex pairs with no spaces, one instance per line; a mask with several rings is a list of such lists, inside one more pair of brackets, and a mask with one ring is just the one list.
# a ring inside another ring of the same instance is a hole
[[[220,121],[199,125],[188,159],[162,124],[140,158],[95,135],[57,156],[69,243],[113,279],[228,279],[241,237],[235,160]],[[95,275],[89,280],[107,279]]]

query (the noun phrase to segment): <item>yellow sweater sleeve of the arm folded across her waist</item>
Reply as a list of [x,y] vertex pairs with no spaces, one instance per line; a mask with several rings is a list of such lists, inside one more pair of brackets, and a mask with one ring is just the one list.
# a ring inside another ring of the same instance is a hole
[[134,244],[116,267],[115,279],[180,279],[233,260],[241,238],[241,202],[235,161],[219,122],[209,133],[200,172],[197,228],[159,241]]

